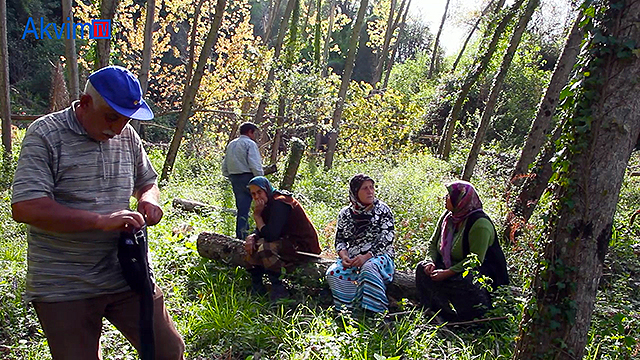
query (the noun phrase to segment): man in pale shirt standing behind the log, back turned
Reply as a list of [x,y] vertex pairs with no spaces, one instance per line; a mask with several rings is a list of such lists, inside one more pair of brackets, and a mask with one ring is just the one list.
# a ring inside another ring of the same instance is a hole
[[254,176],[264,175],[262,158],[256,144],[258,127],[250,122],[240,125],[240,136],[227,146],[222,161],[222,175],[229,178],[236,198],[236,238],[244,240],[249,235],[249,209],[251,193],[247,188]]

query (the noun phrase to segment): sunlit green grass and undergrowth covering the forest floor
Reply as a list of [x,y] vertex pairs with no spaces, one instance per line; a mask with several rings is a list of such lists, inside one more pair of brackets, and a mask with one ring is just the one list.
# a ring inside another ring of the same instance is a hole
[[[151,150],[156,169],[162,153]],[[539,246],[542,221],[518,243],[506,248],[514,286],[496,296],[493,315],[509,318],[473,328],[441,327],[419,311],[395,321],[351,318],[331,309],[326,289],[315,292],[304,284],[291,284],[293,296],[278,305],[250,296],[244,269],[229,268],[201,258],[195,237],[202,231],[231,235],[233,216],[212,211],[208,216],[174,209],[176,197],[233,208],[229,183],[220,175],[220,154],[181,153],[172,179],[162,187],[163,221],[150,229],[151,259],[166,306],[187,344],[189,359],[507,359],[512,356],[522,306]],[[15,156],[4,169],[13,171]],[[324,251],[333,248],[335,219],[347,205],[348,179],[369,173],[377,182],[377,195],[394,211],[400,269],[412,269],[425,254],[426,242],[442,211],[443,182],[455,178],[464,154],[450,162],[429,154],[389,159],[347,161],[337,158],[330,171],[305,161],[294,193],[320,235]],[[638,166],[638,155],[632,166]],[[279,164],[282,168],[283,164]],[[495,219],[505,214],[505,164],[481,157],[474,180],[486,211]],[[277,186],[280,174],[270,176]],[[6,173],[3,178],[10,178]],[[640,178],[627,178],[620,195],[615,233],[587,347],[588,359],[630,359],[637,356],[640,322],[640,262],[633,246],[640,225],[628,225],[628,216],[640,204]],[[5,181],[6,183],[6,181]],[[49,359],[32,307],[22,299],[26,274],[25,226],[10,217],[10,190],[0,187],[0,358]],[[640,219],[638,220],[640,222]],[[621,314],[611,316],[612,314]],[[105,359],[135,359],[127,341],[108,323],[101,345]],[[635,351],[635,353],[634,353]],[[635,354],[635,355],[634,355]]]

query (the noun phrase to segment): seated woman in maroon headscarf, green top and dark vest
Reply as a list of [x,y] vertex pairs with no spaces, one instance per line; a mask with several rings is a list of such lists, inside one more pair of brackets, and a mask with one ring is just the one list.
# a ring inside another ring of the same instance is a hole
[[495,227],[473,185],[455,181],[446,188],[446,211],[426,259],[417,266],[416,288],[422,305],[440,311],[444,320],[467,321],[483,316],[491,297],[472,271],[463,275],[465,270],[481,264],[476,269],[491,279],[494,289],[508,284],[509,277]]

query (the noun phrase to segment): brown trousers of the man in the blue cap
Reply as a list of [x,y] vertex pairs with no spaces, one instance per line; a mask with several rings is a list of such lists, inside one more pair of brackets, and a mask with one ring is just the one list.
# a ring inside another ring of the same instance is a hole
[[[156,287],[153,299],[155,358],[184,359],[184,342],[164,307],[160,288]],[[34,301],[33,306],[54,360],[102,359],[99,345],[102,318],[109,320],[140,350],[140,295],[131,290],[84,300],[51,303]]]

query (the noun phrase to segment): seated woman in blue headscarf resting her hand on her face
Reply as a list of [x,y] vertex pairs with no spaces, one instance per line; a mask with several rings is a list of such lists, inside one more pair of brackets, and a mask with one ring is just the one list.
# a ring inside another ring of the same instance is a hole
[[262,277],[271,280],[272,301],[289,295],[282,285],[282,268],[291,271],[307,258],[298,253],[320,254],[318,234],[302,205],[284,190],[276,190],[264,176],[249,181],[256,230],[245,239],[251,292],[264,295]]

